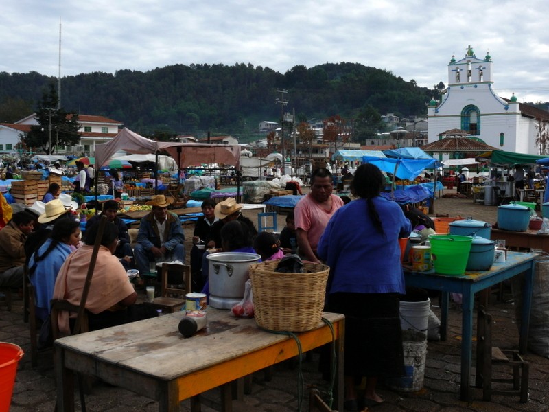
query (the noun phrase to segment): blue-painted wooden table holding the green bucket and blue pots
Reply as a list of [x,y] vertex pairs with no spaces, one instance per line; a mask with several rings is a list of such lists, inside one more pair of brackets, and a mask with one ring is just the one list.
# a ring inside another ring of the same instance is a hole
[[448,297],[450,292],[461,293],[463,301],[461,332],[461,389],[460,398],[471,399],[471,352],[473,339],[473,304],[474,295],[487,290],[506,279],[524,273],[524,290],[522,299],[522,320],[520,323],[519,351],[526,353],[528,328],[530,325],[530,306],[532,304],[532,284],[534,278],[536,253],[508,252],[506,262],[495,262],[489,271],[466,272],[465,275],[441,275],[428,272],[413,272],[405,268],[406,286],[440,290],[441,301],[441,339],[445,340],[448,330]]

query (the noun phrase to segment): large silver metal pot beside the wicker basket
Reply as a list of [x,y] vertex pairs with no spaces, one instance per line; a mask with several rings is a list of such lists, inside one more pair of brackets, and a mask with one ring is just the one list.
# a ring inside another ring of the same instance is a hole
[[224,252],[206,256],[209,268],[209,304],[213,308],[231,309],[244,297],[250,278],[250,264],[261,259],[256,253]]

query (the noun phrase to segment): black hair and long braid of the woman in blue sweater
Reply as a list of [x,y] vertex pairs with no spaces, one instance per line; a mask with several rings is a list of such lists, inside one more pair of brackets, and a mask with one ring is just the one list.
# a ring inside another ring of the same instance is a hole
[[354,196],[366,199],[368,214],[374,227],[385,236],[382,221],[377,214],[373,198],[379,196],[385,185],[385,176],[376,165],[365,163],[360,165],[351,181],[351,192]]

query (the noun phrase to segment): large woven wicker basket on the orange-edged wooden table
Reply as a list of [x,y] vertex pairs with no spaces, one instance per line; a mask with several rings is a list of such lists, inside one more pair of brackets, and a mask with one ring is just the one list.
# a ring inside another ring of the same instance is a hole
[[255,321],[260,328],[304,332],[322,321],[329,267],[305,262],[303,273],[275,272],[279,260],[250,265]]

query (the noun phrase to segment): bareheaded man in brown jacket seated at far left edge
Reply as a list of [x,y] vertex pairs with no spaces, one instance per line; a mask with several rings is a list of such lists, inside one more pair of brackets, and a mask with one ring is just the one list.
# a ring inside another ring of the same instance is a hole
[[19,211],[0,230],[0,286],[23,287],[25,241],[32,232],[34,217]]

